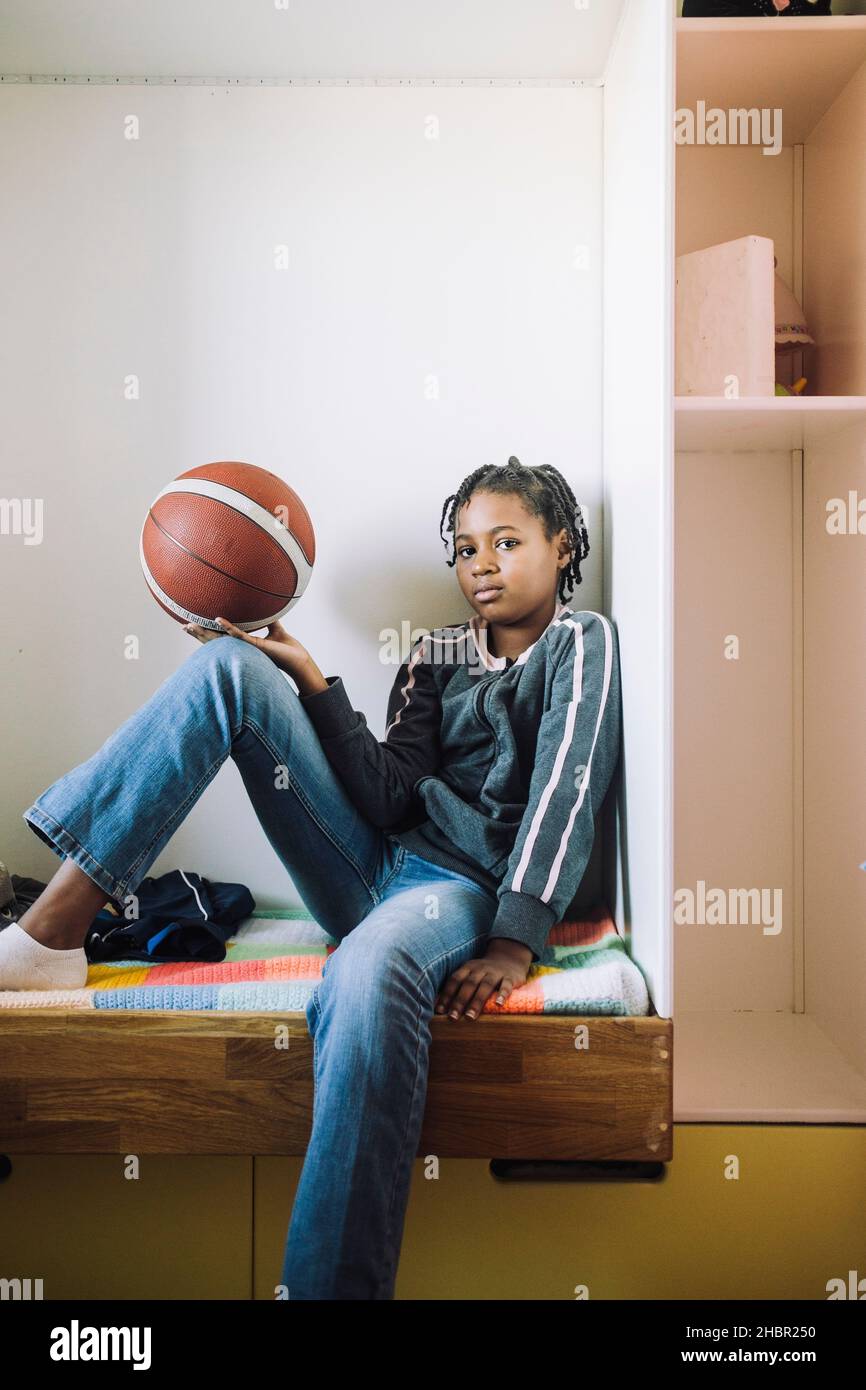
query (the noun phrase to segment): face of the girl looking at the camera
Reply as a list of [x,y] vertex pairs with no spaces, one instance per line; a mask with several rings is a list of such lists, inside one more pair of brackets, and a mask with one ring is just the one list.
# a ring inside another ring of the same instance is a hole
[[556,603],[571,555],[564,528],[550,541],[514,492],[474,492],[455,520],[457,580],[491,624],[514,623]]

